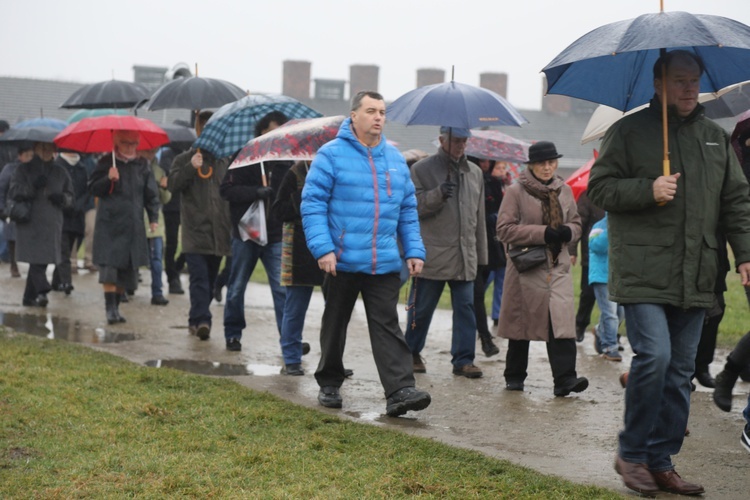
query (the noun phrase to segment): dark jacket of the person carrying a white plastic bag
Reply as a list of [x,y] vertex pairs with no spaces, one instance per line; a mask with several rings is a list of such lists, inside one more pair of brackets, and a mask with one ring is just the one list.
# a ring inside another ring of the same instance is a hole
[[[281,221],[271,211],[271,204],[279,192],[279,186],[284,179],[287,170],[292,166],[290,161],[269,161],[264,163],[266,180],[273,189],[273,195],[266,205],[266,231],[268,231],[268,244],[281,241]],[[258,188],[263,187],[263,176],[260,165],[249,165],[247,167],[228,170],[221,183],[221,197],[229,202],[229,210],[232,215],[232,236],[240,238],[237,225],[245,215],[247,209],[258,199]]]

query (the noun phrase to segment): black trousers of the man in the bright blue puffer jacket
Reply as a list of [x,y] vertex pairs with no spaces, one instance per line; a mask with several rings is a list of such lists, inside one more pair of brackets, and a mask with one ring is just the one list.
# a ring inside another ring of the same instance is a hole
[[320,327],[321,356],[315,371],[319,386],[341,387],[344,382],[346,330],[361,294],[372,355],[386,397],[404,387],[414,387],[411,351],[396,310],[400,284],[398,273],[326,275],[323,283],[326,305]]

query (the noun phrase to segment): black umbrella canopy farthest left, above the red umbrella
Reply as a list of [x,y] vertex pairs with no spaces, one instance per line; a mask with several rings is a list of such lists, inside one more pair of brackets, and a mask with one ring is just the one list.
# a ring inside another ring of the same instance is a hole
[[60,105],[66,109],[132,108],[149,96],[148,89],[135,82],[107,80],[84,85]]

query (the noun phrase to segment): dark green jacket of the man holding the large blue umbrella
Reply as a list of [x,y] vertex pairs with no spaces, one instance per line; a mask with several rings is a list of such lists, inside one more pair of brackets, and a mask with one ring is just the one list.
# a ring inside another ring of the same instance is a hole
[[588,195],[609,212],[609,292],[621,304],[709,308],[718,275],[717,230],[736,264],[750,262],[750,187],[728,134],[698,107],[680,119],[669,110],[674,200],[657,205],[662,175],[658,99],[612,125],[591,169]]

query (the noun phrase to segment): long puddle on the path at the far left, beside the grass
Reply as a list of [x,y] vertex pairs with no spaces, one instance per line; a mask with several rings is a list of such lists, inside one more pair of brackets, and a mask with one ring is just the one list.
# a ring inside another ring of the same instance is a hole
[[78,321],[53,317],[47,313],[18,314],[0,312],[0,324],[36,337],[67,340],[84,344],[111,344],[136,340],[134,333],[113,332],[104,328],[90,328]]

